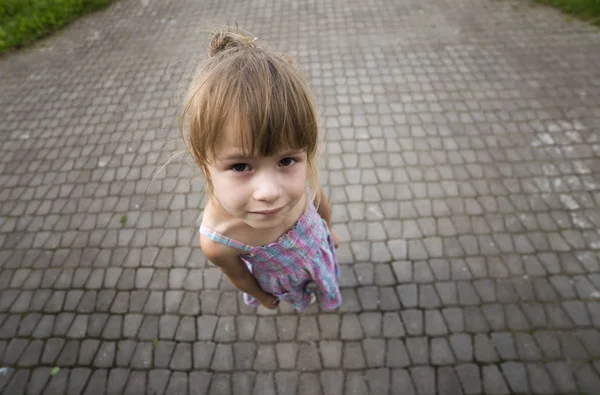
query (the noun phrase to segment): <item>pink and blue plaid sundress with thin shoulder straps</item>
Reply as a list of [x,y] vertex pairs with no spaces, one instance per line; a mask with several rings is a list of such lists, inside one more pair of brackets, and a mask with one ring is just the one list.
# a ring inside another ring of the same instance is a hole
[[[200,233],[217,243],[246,251],[240,258],[260,287],[291,303],[296,310],[309,306],[312,290],[307,285],[313,281],[321,306],[335,309],[341,305],[342,295],[333,238],[315,206],[309,206],[292,229],[263,246],[240,243],[203,225]],[[246,293],[244,301],[250,306],[260,304]]]

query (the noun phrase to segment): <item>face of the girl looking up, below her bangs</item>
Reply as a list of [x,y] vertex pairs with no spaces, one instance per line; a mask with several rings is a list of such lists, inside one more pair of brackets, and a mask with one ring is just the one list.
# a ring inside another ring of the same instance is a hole
[[208,167],[213,197],[232,216],[256,229],[281,224],[306,192],[305,151],[246,156],[232,124],[222,132]]

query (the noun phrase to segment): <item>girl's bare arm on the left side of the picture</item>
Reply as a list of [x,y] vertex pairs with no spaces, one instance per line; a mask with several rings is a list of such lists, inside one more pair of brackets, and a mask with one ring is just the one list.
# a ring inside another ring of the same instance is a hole
[[279,300],[260,288],[256,278],[233,248],[218,244],[200,236],[200,247],[210,262],[218,266],[229,281],[240,291],[253,296],[262,305],[274,309]]

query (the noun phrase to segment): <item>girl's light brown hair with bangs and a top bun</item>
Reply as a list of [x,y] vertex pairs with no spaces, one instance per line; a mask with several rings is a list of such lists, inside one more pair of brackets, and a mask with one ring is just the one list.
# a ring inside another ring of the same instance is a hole
[[208,165],[226,122],[236,122],[248,155],[305,150],[308,184],[318,205],[319,129],[308,83],[291,57],[256,40],[237,28],[212,33],[208,58],[194,75],[181,115],[186,148],[204,173],[209,196]]

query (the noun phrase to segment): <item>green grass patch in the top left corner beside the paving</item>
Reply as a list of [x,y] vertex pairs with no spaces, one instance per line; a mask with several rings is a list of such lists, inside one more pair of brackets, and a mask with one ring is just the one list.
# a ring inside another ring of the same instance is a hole
[[0,53],[57,31],[112,0],[0,0]]

